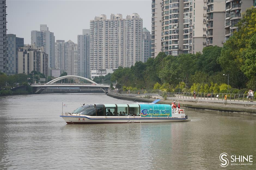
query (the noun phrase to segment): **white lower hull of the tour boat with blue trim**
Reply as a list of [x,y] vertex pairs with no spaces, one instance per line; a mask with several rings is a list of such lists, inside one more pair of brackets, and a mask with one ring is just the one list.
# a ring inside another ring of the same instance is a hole
[[140,116],[74,116],[60,115],[67,124],[89,123],[147,123],[147,122],[185,122],[186,118],[140,117]]

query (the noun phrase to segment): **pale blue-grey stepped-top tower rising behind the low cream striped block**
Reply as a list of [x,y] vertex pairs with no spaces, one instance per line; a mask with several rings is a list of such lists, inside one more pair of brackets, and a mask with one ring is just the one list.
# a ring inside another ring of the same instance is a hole
[[49,56],[48,67],[55,68],[55,36],[46,24],[40,24],[40,31],[31,31],[31,44],[35,44],[35,48],[44,47]]

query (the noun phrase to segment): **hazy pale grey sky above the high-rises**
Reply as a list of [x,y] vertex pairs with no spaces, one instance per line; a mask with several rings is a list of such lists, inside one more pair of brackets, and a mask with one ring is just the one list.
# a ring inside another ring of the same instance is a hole
[[31,44],[31,31],[47,24],[56,40],[72,40],[82,29],[90,29],[90,20],[106,14],[138,13],[143,27],[151,31],[151,0],[7,0],[7,34],[24,38]]

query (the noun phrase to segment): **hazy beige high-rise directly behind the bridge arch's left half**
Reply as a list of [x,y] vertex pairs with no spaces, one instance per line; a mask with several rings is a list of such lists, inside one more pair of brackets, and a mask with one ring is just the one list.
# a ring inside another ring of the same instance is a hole
[[56,40],[55,65],[57,69],[64,70],[68,75],[78,75],[77,44],[69,40]]

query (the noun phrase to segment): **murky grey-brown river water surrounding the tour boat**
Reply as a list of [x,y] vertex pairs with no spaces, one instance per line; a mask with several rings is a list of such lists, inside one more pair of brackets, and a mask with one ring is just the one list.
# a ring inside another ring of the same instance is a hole
[[80,103],[132,103],[99,94],[0,97],[0,169],[221,169],[219,156],[253,155],[256,117],[185,109],[190,122],[66,124]]

